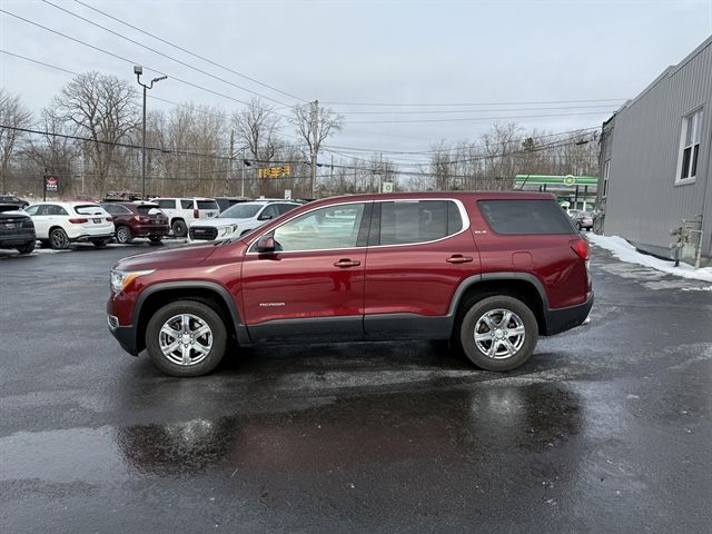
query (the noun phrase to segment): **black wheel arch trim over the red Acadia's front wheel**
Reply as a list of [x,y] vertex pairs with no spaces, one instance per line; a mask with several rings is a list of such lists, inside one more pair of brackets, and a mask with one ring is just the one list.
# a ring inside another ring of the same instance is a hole
[[157,284],[147,288],[136,304],[136,344],[138,352],[146,348],[146,328],[150,317],[162,306],[175,300],[196,300],[212,308],[225,322],[228,338],[238,344],[249,343],[230,293],[211,281],[176,281]]

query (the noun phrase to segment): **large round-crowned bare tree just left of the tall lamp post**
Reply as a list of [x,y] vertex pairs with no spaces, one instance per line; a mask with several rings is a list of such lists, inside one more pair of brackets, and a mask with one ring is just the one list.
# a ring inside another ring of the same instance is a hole
[[92,189],[106,191],[116,144],[139,125],[137,92],[128,81],[99,72],[78,75],[55,98],[57,113],[88,137],[86,155],[92,169]]

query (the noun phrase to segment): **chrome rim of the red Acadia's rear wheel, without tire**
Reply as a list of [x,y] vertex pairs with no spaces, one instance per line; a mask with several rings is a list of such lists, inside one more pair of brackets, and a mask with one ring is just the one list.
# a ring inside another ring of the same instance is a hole
[[506,359],[514,356],[526,337],[524,322],[508,309],[491,309],[475,325],[475,345],[485,356]]

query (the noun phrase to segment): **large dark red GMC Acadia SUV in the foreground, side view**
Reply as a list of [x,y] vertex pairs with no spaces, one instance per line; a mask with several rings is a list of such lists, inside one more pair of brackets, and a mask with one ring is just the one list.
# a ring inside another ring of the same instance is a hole
[[551,195],[327,198],[241,238],[122,259],[109,329],[174,376],[239,346],[453,339],[477,366],[526,362],[593,305],[589,245]]

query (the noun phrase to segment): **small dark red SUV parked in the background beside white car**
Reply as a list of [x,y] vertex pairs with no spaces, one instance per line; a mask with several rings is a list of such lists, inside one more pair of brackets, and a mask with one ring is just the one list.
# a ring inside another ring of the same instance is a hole
[[135,237],[148,237],[158,244],[170,231],[168,217],[152,202],[101,202],[113,217],[118,243],[131,243]]

